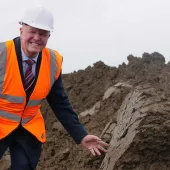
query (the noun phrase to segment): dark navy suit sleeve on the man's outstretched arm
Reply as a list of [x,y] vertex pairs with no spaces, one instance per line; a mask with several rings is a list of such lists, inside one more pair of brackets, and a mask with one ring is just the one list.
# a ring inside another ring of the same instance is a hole
[[87,135],[87,131],[80,123],[77,113],[74,112],[68,100],[68,96],[64,90],[61,74],[48,94],[47,101],[58,120],[71,135],[74,141],[79,144]]

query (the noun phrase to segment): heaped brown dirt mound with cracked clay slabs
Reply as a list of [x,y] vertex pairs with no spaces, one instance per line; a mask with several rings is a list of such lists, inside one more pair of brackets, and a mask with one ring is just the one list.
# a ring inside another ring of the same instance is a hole
[[[80,121],[110,144],[108,153],[93,157],[76,145],[44,102],[47,142],[37,170],[170,170],[170,63],[157,52],[127,59],[63,75]],[[6,153],[0,170],[9,166]]]

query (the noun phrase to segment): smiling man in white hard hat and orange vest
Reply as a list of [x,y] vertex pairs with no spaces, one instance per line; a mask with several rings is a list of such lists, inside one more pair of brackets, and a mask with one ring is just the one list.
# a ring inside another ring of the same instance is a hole
[[45,8],[32,8],[19,23],[20,37],[0,43],[0,159],[9,147],[11,170],[36,169],[46,141],[40,113],[45,98],[77,144],[92,155],[106,152],[108,144],[87,134],[68,101],[61,55],[46,48],[53,30],[52,14]]

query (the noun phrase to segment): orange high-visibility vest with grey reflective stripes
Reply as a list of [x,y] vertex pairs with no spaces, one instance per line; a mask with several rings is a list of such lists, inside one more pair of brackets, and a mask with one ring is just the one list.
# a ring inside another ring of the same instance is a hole
[[42,60],[35,88],[26,102],[13,40],[0,43],[0,139],[21,124],[40,142],[46,141],[42,101],[61,72],[62,56],[51,49],[42,51]]

